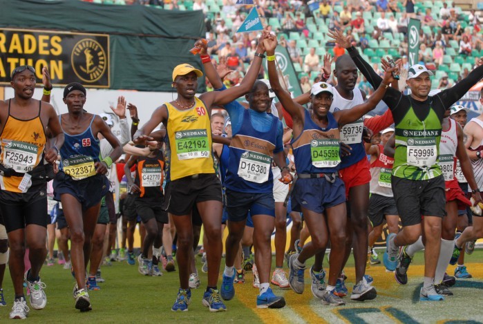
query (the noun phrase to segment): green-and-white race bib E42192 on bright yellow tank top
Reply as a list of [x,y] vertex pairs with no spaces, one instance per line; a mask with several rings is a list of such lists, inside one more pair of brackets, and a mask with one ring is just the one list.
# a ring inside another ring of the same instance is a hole
[[211,147],[206,129],[193,129],[175,133],[178,160],[209,158]]

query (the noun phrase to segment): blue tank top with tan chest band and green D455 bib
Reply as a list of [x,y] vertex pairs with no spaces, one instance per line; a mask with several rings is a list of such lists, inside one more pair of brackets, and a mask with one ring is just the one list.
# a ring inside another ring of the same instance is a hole
[[305,110],[303,131],[291,142],[297,173],[334,173],[341,169],[339,125],[332,113],[327,118],[327,128],[321,128]]

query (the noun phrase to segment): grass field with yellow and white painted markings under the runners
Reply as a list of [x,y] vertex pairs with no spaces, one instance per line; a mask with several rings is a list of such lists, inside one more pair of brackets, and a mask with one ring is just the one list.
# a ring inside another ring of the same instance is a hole
[[[468,271],[474,278],[458,280],[443,302],[419,302],[422,285],[423,254],[415,257],[409,269],[409,282],[398,285],[391,273],[381,265],[372,266],[367,273],[375,278],[378,297],[375,301],[358,303],[346,297],[344,307],[322,305],[310,292],[310,278],[305,271],[305,292],[295,294],[290,289],[272,286],[276,294],[285,296],[287,306],[283,309],[256,309],[257,290],[251,285],[252,274],[247,283],[236,285],[234,300],[226,303],[228,311],[210,313],[201,305],[203,289],[192,291],[189,312],[171,312],[171,305],[179,287],[178,271],[162,277],[146,277],[138,273],[138,267],[126,262],[102,267],[102,290],[90,292],[93,311],[79,313],[74,308],[72,290],[74,280],[70,271],[60,265],[44,266],[41,278],[46,283],[47,307],[41,311],[30,309],[28,321],[35,323],[481,323],[483,321],[483,251],[476,250],[466,257]],[[200,258],[197,257],[200,267]],[[346,269],[349,292],[354,285],[352,257]],[[452,274],[454,267],[448,268]],[[200,272],[202,287],[206,274]],[[12,307],[12,283],[8,269],[3,283],[7,307],[0,307],[0,322],[8,321]],[[29,304],[30,305],[30,304]]]

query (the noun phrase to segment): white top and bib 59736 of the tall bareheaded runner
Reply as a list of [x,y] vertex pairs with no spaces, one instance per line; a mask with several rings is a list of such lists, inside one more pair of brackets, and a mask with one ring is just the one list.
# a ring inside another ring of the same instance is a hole
[[[354,90],[352,90],[354,93],[352,100],[343,98],[335,87],[334,90],[334,99],[332,100],[332,105],[329,109],[331,113],[334,113],[335,111],[342,111],[344,109],[350,109],[358,104],[363,104],[364,102],[362,99],[361,90],[359,90],[359,88],[354,88]],[[362,140],[363,126],[363,117],[359,118],[359,120],[356,120],[355,122],[343,126],[341,128],[341,142],[344,142],[345,144],[360,143]]]

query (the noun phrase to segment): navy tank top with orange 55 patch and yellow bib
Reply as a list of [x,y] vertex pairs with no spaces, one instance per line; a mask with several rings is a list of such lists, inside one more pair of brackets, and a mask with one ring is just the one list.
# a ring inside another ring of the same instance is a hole
[[[70,135],[64,131],[64,145],[60,148],[60,166],[59,170],[64,171],[75,180],[95,175],[94,163],[100,161],[100,144],[99,140],[92,133],[92,123],[84,132],[77,135]],[[61,116],[59,116],[61,123]],[[61,124],[62,126],[62,124]]]

